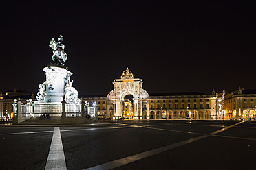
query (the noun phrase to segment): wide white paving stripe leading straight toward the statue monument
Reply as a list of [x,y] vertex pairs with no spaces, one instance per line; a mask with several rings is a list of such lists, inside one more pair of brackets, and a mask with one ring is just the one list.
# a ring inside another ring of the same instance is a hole
[[54,127],[52,143],[50,146],[50,151],[45,166],[45,170],[50,169],[67,169],[63,145],[61,141],[61,132],[59,127]]

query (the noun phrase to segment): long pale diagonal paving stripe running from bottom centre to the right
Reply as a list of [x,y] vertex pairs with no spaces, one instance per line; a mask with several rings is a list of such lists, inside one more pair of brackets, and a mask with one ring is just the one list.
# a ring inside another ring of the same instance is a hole
[[[236,123],[236,124],[233,124],[233,125],[230,125],[228,127],[225,127],[221,130],[217,130],[215,132],[212,132],[211,134],[204,134],[202,136],[198,136],[198,137],[195,137],[195,138],[190,138],[188,140],[185,140],[185,141],[181,141],[179,143],[173,143],[171,145],[167,145],[165,147],[160,147],[158,149],[153,149],[153,150],[150,150],[150,151],[145,151],[145,152],[142,152],[140,154],[135,154],[135,155],[132,155],[132,156],[127,156],[125,158],[120,158],[118,160],[113,160],[111,162],[107,162],[107,163],[104,163],[104,164],[101,164],[101,165],[96,165],[94,167],[90,167],[90,168],[87,168],[87,169],[84,169],[84,170],[97,170],[97,169],[100,169],[100,170],[108,170],[108,169],[114,169],[116,167],[120,167],[122,165],[127,165],[131,162],[135,162],[137,160],[141,160],[143,158],[147,158],[149,156],[153,156],[153,155],[156,155],[156,154],[160,154],[164,151],[169,151],[170,149],[173,149],[175,147],[180,147],[182,145],[186,145],[188,143],[192,143],[194,141],[198,141],[198,140],[201,140],[202,138],[206,138],[206,137],[209,137],[209,136],[213,136],[215,134],[218,134],[220,132],[223,132],[224,130],[227,130],[231,127],[234,127],[235,125],[239,125],[240,123],[243,123],[243,122],[239,122],[239,123]],[[139,127],[138,125],[136,125],[137,127]]]

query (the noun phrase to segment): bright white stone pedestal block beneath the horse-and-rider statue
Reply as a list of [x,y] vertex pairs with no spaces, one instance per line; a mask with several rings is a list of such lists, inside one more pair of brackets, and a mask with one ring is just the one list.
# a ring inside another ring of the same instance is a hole
[[46,75],[44,102],[61,102],[65,94],[65,84],[70,84],[70,76],[73,73],[58,66],[47,66],[43,71]]

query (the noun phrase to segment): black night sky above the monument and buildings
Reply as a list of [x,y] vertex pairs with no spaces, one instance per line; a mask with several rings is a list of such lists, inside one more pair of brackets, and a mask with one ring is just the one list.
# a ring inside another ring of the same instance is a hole
[[59,34],[79,95],[107,95],[127,66],[148,93],[256,88],[255,9],[255,1],[1,3],[0,89],[36,93]]

